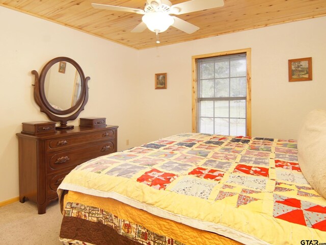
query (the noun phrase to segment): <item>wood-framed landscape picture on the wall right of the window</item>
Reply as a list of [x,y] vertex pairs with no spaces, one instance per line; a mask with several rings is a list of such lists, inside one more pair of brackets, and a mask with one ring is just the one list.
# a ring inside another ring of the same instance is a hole
[[289,82],[312,80],[312,59],[289,60]]

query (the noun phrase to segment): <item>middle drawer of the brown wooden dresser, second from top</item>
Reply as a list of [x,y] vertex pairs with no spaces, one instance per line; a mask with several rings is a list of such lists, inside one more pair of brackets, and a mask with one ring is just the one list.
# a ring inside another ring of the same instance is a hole
[[48,153],[46,156],[47,173],[52,173],[53,171],[64,168],[72,169],[73,167],[90,159],[116,151],[116,141],[113,139],[92,144],[91,146],[84,146],[80,148],[77,147],[67,151]]

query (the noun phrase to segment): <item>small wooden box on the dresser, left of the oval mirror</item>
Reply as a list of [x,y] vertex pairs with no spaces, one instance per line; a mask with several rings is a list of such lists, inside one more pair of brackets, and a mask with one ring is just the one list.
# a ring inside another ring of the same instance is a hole
[[45,134],[45,133],[55,133],[56,132],[56,122],[53,121],[30,121],[22,123],[23,134]]

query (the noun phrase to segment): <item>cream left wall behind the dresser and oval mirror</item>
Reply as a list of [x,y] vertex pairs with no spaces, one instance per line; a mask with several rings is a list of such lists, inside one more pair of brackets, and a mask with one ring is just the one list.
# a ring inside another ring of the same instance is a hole
[[[91,77],[89,102],[79,117],[106,117],[118,125],[118,150],[139,144],[136,50],[0,7],[0,54],[0,202],[19,195],[15,134],[21,122],[49,120],[34,102],[31,70],[40,73],[55,57],[72,58]],[[68,124],[77,126],[79,119]]]

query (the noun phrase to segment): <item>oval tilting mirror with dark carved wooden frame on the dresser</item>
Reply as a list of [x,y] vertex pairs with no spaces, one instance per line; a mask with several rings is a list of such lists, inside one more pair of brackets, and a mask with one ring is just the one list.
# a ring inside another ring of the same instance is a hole
[[72,59],[58,57],[50,60],[42,69],[40,76],[36,70],[34,97],[51,120],[60,121],[58,129],[67,126],[68,120],[75,119],[88,101],[89,77],[85,78],[82,68]]

